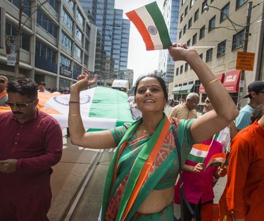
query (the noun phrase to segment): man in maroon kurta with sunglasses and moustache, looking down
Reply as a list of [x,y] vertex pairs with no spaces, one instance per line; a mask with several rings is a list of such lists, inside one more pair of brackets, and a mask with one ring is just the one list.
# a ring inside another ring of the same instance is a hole
[[8,83],[0,115],[0,220],[49,220],[51,166],[62,154],[58,122],[38,111],[34,80]]

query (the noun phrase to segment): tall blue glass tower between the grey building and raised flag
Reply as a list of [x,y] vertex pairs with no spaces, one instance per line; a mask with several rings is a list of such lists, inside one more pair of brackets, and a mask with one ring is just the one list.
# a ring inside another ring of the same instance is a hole
[[89,19],[98,27],[95,72],[99,84],[111,86],[118,76],[126,76],[130,20],[115,9],[115,0],[81,0]]

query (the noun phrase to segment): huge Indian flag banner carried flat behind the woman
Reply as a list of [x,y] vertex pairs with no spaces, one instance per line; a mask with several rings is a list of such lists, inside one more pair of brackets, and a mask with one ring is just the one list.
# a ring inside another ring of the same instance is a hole
[[[70,94],[38,94],[39,110],[52,115],[61,127],[68,127]],[[87,129],[106,130],[133,122],[127,94],[108,87],[94,87],[81,91],[80,110],[82,122]],[[10,111],[0,107],[0,114]]]

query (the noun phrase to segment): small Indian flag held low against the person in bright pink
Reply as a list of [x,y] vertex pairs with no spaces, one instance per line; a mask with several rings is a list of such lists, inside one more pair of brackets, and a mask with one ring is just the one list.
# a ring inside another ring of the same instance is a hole
[[203,163],[206,158],[210,145],[207,144],[194,144],[192,146],[191,152],[189,153],[187,159],[196,163]]

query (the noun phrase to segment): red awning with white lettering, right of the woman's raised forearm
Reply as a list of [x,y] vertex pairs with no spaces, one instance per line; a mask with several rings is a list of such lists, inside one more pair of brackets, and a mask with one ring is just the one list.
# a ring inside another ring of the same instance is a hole
[[232,70],[225,75],[224,86],[228,93],[239,91],[239,79],[241,70]]

